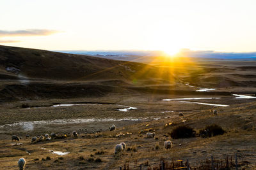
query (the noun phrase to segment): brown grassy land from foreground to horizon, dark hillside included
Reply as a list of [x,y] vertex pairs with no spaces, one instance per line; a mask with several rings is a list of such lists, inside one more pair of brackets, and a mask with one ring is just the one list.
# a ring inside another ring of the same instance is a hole
[[[211,155],[224,160],[235,153],[243,168],[256,169],[256,101],[232,95],[255,96],[255,61],[147,65],[8,46],[0,46],[0,59],[1,169],[17,169],[20,157],[28,169],[118,169],[127,162],[131,169],[140,164],[147,169],[161,157],[189,159],[196,166]],[[8,71],[10,67],[16,71]],[[200,87],[215,90],[196,91]],[[163,101],[184,97],[218,98]],[[129,107],[137,109],[119,110]],[[168,123],[172,125],[164,127]],[[116,131],[109,132],[113,124]],[[200,137],[200,129],[212,124],[226,133]],[[180,125],[195,129],[195,137],[171,138]],[[140,133],[150,128],[155,138]],[[78,138],[72,131],[79,132]],[[30,142],[51,132],[66,133],[67,138]],[[117,137],[120,133],[125,135]],[[12,141],[13,134],[22,139]],[[163,143],[168,139],[173,148],[166,151]],[[129,149],[114,155],[122,141]]]

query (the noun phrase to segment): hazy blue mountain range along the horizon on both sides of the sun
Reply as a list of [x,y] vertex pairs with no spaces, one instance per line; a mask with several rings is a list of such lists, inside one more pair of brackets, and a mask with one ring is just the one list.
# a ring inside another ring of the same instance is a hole
[[[138,62],[150,62],[154,57],[164,56],[166,53],[162,51],[150,51],[150,50],[67,50],[56,51],[64,53],[73,53],[81,55],[93,55],[97,57],[115,59],[115,60],[134,60]],[[215,52],[212,50],[189,50],[182,49],[176,54],[179,57],[193,57],[200,60],[255,60],[256,52]]]

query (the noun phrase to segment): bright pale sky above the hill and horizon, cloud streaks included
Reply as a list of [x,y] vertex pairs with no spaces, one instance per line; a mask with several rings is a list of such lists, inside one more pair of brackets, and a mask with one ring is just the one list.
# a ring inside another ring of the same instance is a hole
[[256,51],[256,1],[1,0],[0,45]]

